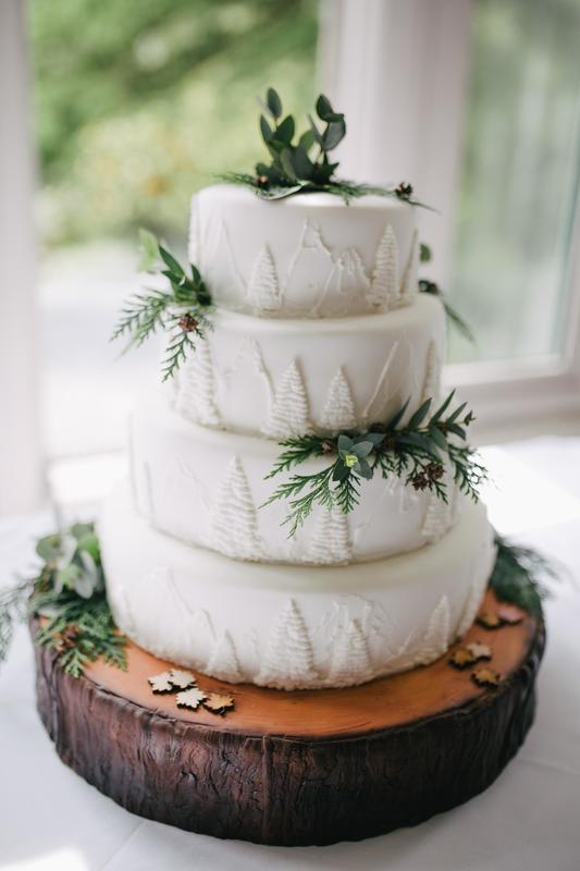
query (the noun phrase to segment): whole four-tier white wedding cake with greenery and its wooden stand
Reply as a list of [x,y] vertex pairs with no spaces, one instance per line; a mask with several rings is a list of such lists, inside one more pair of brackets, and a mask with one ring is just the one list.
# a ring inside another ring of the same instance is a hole
[[296,139],[269,89],[271,162],[193,197],[187,267],[141,231],[113,338],[165,351],[127,480],[0,601],[0,659],[32,613],[74,771],[141,817],[293,846],[485,789],[545,638],[545,563],[490,526],[473,416],[442,394],[446,323],[468,328],[418,274],[423,204],[337,176],[344,118],[316,112]]

